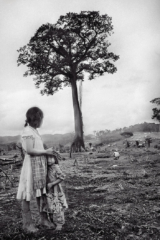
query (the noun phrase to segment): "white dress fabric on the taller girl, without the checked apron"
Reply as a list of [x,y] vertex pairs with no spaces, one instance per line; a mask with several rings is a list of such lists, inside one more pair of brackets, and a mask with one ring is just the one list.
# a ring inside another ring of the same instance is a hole
[[[37,150],[44,150],[43,142],[38,134],[38,131],[34,128],[27,126],[24,128],[21,136],[22,148],[26,151],[26,139],[31,138],[33,140],[33,147]],[[44,165],[45,168],[45,165]],[[32,167],[31,167],[31,158],[30,155],[25,153],[25,158],[23,161],[23,166],[20,174],[20,181],[17,192],[17,199],[25,199],[30,201],[33,196],[40,197],[41,195],[46,194],[46,188],[33,189],[33,176],[32,176]]]

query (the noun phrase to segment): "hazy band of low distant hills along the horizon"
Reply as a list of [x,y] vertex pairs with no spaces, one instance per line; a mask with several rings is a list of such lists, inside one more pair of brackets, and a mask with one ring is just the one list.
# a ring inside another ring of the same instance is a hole
[[[96,132],[96,139],[93,134],[89,134],[84,136],[85,142],[92,142],[97,143],[98,142],[104,142],[104,143],[109,143],[109,142],[115,142],[118,140],[124,139],[120,133],[125,132],[125,131],[130,131],[133,132],[134,138],[138,137],[138,133],[140,134],[141,137],[144,137],[144,133],[150,133],[153,138],[159,138],[159,129],[160,129],[160,124],[156,123],[141,123],[141,124],[135,124],[133,126],[129,127],[124,127],[120,129],[116,129],[113,131],[109,130],[104,130],[104,131],[97,131]],[[53,146],[56,145],[58,146],[59,144],[61,145],[70,145],[71,142],[73,141],[74,138],[74,133],[66,133],[66,134],[44,134],[42,135],[43,142],[48,146]],[[0,137],[0,145],[12,145],[13,143],[17,143],[20,141],[20,135],[17,136],[3,136]]]

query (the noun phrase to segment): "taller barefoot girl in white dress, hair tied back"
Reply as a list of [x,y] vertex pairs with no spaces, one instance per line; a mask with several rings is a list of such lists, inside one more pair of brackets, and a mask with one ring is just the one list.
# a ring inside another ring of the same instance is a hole
[[43,121],[43,112],[38,107],[30,108],[26,113],[26,124],[22,132],[22,147],[25,158],[20,175],[17,199],[22,200],[23,228],[29,232],[36,232],[33,225],[30,201],[36,197],[40,212],[41,224],[52,228],[46,212],[40,208],[40,200],[46,195],[47,156],[54,156],[53,149],[44,150],[42,139],[37,131]]

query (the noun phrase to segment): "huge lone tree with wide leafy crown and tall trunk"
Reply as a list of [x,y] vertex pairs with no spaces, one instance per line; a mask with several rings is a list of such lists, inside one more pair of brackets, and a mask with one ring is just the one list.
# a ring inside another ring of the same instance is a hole
[[[65,86],[72,89],[75,137],[72,146],[84,147],[83,123],[78,101],[77,82],[114,73],[112,62],[119,57],[108,52],[107,38],[113,33],[112,18],[97,11],[67,13],[56,24],[42,25],[29,43],[18,52],[18,66],[24,64],[24,76],[34,75],[41,94],[53,95]],[[110,62],[112,61],[112,62]]]

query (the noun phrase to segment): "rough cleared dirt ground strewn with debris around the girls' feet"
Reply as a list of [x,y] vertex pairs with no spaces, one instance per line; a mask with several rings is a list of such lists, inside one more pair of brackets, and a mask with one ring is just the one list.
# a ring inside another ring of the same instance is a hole
[[[101,156],[102,157],[102,156]],[[60,163],[66,174],[64,190],[69,208],[61,232],[39,225],[31,203],[36,234],[22,230],[21,202],[16,200],[20,167],[13,186],[0,189],[0,239],[136,240],[160,239],[160,155],[158,150],[129,149],[119,160],[73,159]]]

